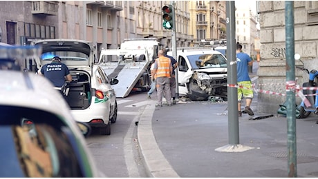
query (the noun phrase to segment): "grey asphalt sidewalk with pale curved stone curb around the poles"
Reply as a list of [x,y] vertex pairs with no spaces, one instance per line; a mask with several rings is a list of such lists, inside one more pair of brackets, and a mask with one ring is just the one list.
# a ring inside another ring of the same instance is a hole
[[[257,94],[251,106],[254,116],[269,115],[258,114],[256,103]],[[227,102],[180,100],[171,107],[155,105],[156,98],[149,100],[138,124],[140,151],[149,176],[288,177],[286,117],[273,114],[251,120],[253,116],[243,114],[238,117],[237,146],[246,150],[226,152],[218,149],[233,147],[229,145]],[[316,120],[296,119],[298,177],[318,177]]]

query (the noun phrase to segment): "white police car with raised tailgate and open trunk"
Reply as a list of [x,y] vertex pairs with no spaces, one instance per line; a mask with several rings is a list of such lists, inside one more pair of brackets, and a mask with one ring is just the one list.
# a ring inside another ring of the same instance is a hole
[[72,82],[66,87],[66,101],[75,120],[88,123],[102,135],[111,134],[111,123],[117,120],[118,106],[115,90],[118,83],[109,79],[98,65],[95,46],[88,41],[74,39],[46,39],[32,42],[42,48],[41,58],[35,59],[37,68],[51,63],[59,56],[68,66]]

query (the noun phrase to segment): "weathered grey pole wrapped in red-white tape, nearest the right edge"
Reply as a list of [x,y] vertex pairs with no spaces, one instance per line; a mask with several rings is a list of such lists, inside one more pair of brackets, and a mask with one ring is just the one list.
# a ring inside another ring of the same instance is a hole
[[[286,23],[286,100],[288,138],[288,177],[297,177],[296,107],[294,85],[294,2],[285,2]],[[289,87],[288,87],[289,86]]]

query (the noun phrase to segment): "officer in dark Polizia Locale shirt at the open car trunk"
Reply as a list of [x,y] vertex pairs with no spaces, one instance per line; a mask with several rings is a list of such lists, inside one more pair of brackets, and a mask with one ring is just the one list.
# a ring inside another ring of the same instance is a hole
[[51,63],[43,65],[39,74],[44,75],[55,87],[62,87],[65,81],[72,81],[68,67],[61,62],[59,56],[54,56]]

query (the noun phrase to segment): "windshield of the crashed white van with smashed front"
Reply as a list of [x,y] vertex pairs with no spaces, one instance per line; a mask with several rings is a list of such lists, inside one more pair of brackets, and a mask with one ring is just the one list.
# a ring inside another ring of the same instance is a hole
[[227,61],[221,54],[195,54],[187,56],[191,67],[196,69],[227,67]]

